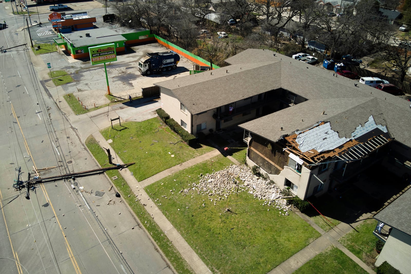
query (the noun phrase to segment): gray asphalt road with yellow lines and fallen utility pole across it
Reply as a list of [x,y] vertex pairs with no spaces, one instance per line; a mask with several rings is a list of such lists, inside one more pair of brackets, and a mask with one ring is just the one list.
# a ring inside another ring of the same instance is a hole
[[0,4],[0,47],[17,46],[0,53],[0,272],[172,273],[104,175],[38,184],[30,199],[12,187],[35,169],[49,168],[44,178],[99,166],[19,46],[29,42],[16,31],[23,18],[8,13]]

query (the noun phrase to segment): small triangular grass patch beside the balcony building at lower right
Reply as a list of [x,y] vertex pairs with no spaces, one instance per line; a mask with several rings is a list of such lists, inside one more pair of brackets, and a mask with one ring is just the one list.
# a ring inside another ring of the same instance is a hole
[[377,223],[378,221],[375,219],[365,220],[358,225],[355,230],[351,230],[341,237],[338,242],[343,244],[363,262],[372,265],[373,262],[375,262],[374,258],[377,256],[377,252],[375,251],[377,237],[372,234]]

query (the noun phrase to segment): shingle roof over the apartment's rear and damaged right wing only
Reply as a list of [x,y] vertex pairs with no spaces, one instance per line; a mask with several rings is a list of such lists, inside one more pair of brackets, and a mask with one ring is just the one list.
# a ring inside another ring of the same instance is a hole
[[[358,81],[341,76],[335,77],[334,71],[307,65],[278,53],[275,57],[272,54],[267,50],[247,49],[228,58],[226,62],[241,64],[279,59],[281,87],[307,98],[308,101],[240,124],[240,127],[275,142],[284,134],[291,134],[296,129],[309,128],[320,120],[331,121],[338,117],[341,120],[341,117],[349,115],[352,120],[344,123],[343,128],[342,124],[341,127],[337,126],[338,130],[336,129],[339,134],[346,135],[355,129],[355,127],[350,129],[355,124],[366,122],[363,117],[371,113],[377,124],[387,125],[391,137],[411,146],[411,134],[408,130],[411,129],[411,109],[408,101],[360,84]],[[358,84],[357,87],[354,83]],[[371,99],[375,100],[370,101]],[[367,104],[362,105],[367,101],[369,101]],[[365,109],[368,109],[367,113]],[[335,117],[321,116],[322,111]],[[362,118],[358,117],[360,113]],[[301,122],[302,119],[304,122]],[[283,127],[283,131],[279,131],[280,127]]]

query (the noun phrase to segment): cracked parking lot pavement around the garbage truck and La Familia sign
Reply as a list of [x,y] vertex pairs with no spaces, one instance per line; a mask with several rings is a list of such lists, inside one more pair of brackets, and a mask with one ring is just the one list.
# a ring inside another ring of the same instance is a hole
[[[117,61],[107,63],[107,75],[111,95],[121,99],[128,99],[128,95],[134,97],[141,96],[141,89],[151,87],[153,83],[178,78],[189,75],[189,70],[193,69],[193,62],[180,56],[180,62],[176,69],[162,73],[143,76],[138,70],[138,61],[150,52],[169,51],[158,43],[143,44],[127,48],[127,53],[118,55]],[[106,75],[104,65],[92,66],[90,61],[74,61],[71,56],[67,56],[62,51],[51,54],[43,54],[41,58],[46,63],[51,63],[53,70],[64,70],[70,74],[74,82],[62,85],[65,94],[73,93],[75,97],[83,102],[87,108],[108,104]],[[43,75],[48,69],[44,66]],[[51,80],[46,80],[48,87],[53,87]],[[61,94],[60,94],[61,95]]]

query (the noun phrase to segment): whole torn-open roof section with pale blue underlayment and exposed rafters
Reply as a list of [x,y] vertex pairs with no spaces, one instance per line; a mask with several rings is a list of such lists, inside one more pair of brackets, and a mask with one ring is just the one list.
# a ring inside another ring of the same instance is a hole
[[339,136],[331,124],[321,122],[285,139],[293,146],[293,152],[313,163],[333,157],[346,161],[362,159],[392,140],[386,125],[376,124],[373,115],[370,115],[363,124],[353,128],[351,136]]

